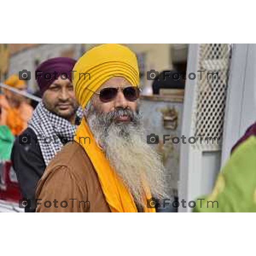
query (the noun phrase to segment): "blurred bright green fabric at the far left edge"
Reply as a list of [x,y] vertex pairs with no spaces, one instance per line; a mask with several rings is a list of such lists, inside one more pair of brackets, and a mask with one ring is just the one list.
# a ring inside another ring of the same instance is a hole
[[6,125],[0,126],[0,160],[10,160],[14,136]]

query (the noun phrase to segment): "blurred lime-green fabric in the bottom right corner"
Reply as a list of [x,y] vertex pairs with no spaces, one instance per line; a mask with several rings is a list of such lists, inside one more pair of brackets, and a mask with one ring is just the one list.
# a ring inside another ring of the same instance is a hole
[[[256,212],[256,137],[245,140],[218,175],[212,194],[194,212]],[[207,201],[217,201],[218,204]],[[213,207],[212,207],[213,205]]]

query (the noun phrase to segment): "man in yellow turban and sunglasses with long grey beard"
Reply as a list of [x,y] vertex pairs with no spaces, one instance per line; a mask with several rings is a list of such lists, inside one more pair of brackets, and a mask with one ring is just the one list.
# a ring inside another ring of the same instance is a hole
[[84,118],[38,183],[37,212],[155,212],[164,168],[146,143],[137,58],[103,44],[76,63],[74,89]]

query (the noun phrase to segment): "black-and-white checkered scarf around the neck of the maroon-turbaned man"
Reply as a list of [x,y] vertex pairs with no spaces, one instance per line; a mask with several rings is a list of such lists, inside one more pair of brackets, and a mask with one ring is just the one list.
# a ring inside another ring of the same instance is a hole
[[[81,108],[77,110],[76,116],[81,119]],[[73,140],[76,127],[66,119],[48,111],[42,102],[37,105],[32,119],[28,123],[28,128],[31,128],[36,134],[46,166],[61,150],[62,145],[67,143],[67,140]]]

